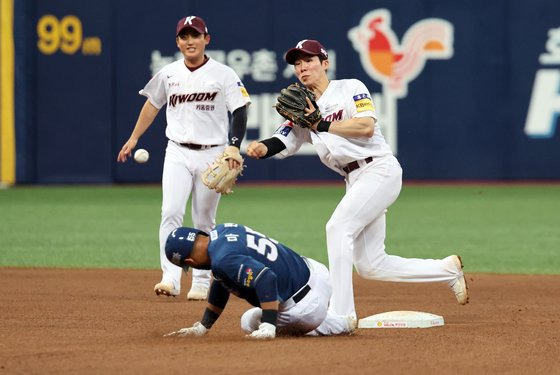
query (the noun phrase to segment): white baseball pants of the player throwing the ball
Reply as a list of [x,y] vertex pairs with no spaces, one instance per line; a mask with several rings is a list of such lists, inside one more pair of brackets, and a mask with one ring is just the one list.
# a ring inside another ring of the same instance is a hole
[[346,178],[346,194],[329,219],[327,248],[333,293],[330,308],[356,316],[352,265],[366,279],[443,282],[457,269],[441,259],[413,259],[385,252],[385,212],[402,187],[402,169],[394,157],[374,159]]

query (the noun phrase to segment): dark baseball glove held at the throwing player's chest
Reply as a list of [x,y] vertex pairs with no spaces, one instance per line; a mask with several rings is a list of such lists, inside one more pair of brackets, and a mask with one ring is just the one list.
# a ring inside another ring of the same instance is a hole
[[[313,107],[315,107],[315,110],[310,114],[305,113],[305,108],[307,108],[305,98],[309,98]],[[277,100],[278,103],[275,105],[276,111],[285,119],[302,128],[311,128],[313,124],[321,120],[321,111],[319,111],[319,107],[315,102],[315,95],[304,86],[300,86],[297,83],[291,84],[280,91],[280,96]]]

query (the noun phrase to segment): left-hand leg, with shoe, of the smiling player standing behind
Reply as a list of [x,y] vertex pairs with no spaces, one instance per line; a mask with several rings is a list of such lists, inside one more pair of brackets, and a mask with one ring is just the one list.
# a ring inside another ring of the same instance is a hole
[[[162,175],[161,224],[159,229],[160,261],[163,275],[156,284],[157,294],[178,295],[182,269],[165,256],[165,242],[169,233],[183,225],[185,206],[191,192],[192,176],[184,162],[183,150],[169,141],[165,152]],[[171,285],[171,288],[167,286]]]

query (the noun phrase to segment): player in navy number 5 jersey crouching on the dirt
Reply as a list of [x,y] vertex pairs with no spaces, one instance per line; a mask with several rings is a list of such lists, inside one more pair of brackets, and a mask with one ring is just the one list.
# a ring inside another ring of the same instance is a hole
[[165,246],[177,266],[211,269],[214,280],[202,319],[166,336],[202,336],[224,310],[230,293],[254,308],[241,317],[249,337],[336,335],[356,329],[354,316],[328,310],[331,287],[323,264],[240,224],[220,224],[210,232],[180,227]]

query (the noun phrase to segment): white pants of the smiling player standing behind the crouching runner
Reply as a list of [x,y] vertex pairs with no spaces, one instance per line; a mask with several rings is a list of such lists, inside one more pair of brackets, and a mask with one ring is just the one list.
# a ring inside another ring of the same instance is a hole
[[[170,282],[175,289],[181,289],[182,268],[177,267],[165,256],[165,242],[169,233],[183,226],[187,201],[192,193],[192,227],[210,233],[216,225],[216,211],[220,194],[210,190],[202,182],[202,173],[224,147],[207,150],[190,150],[167,142],[162,176],[161,225],[159,229],[160,261],[163,271],[162,282]],[[190,225],[188,225],[190,226]],[[210,286],[210,271],[192,269],[193,284]]]

